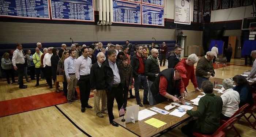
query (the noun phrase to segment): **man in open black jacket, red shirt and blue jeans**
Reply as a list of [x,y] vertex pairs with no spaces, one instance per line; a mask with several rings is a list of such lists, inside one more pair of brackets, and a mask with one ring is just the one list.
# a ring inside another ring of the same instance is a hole
[[142,103],[140,100],[140,94],[139,94],[139,87],[140,85],[143,86],[144,94],[143,94],[143,104],[149,104],[147,100],[148,96],[148,82],[147,82],[147,76],[144,75],[144,61],[146,58],[143,56],[143,46],[142,45],[136,45],[135,46],[136,53],[133,56],[133,59],[131,60],[132,65],[132,73],[134,77],[134,89],[135,89],[135,98],[137,101],[137,104],[142,107]]

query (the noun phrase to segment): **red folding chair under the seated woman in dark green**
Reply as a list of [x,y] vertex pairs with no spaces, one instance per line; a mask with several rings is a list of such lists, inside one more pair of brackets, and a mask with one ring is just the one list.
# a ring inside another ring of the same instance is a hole
[[225,123],[223,123],[212,135],[200,134],[196,132],[193,132],[193,135],[196,137],[225,137],[225,132],[229,129],[229,127],[231,128],[234,125],[234,123],[237,122],[237,120],[238,119],[236,117],[230,118]]

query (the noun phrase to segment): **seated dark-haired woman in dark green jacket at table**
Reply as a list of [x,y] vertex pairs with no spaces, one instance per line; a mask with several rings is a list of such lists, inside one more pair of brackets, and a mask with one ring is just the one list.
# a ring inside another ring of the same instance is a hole
[[193,132],[202,134],[213,134],[221,126],[222,99],[213,94],[213,84],[203,81],[202,89],[206,94],[198,103],[196,111],[184,109],[188,115],[198,117],[181,128],[182,133],[193,137]]

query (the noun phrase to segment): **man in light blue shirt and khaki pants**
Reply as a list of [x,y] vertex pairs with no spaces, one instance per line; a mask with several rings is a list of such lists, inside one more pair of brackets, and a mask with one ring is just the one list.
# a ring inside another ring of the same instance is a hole
[[77,84],[77,79],[75,75],[76,51],[71,49],[68,51],[68,53],[69,57],[64,61],[64,70],[68,82],[67,100],[68,104],[72,104],[73,101],[79,100],[75,97],[75,88]]

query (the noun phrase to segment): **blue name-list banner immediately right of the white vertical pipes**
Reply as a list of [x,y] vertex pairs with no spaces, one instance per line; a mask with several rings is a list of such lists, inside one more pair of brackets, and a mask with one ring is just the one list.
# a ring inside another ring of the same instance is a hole
[[141,24],[139,3],[113,0],[113,22],[125,24]]

